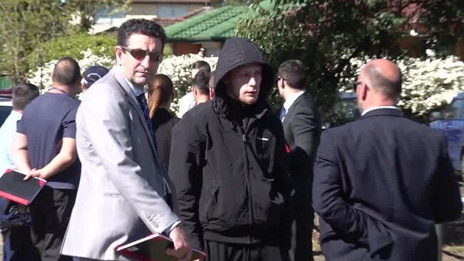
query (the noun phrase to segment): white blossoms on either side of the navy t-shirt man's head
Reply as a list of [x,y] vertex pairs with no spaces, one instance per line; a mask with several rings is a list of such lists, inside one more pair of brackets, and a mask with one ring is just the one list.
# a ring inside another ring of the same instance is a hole
[[[114,57],[97,56],[92,53],[91,49],[81,51],[81,54],[84,57],[76,61],[79,63],[82,73],[84,73],[86,68],[89,68],[90,66],[99,65],[111,68],[114,65]],[[39,66],[39,68],[36,68],[35,71],[29,72],[29,82],[38,86],[41,93],[49,91],[51,88],[51,73],[53,72],[54,66],[57,62],[58,60],[49,61],[48,63],[44,63],[42,66]]]

